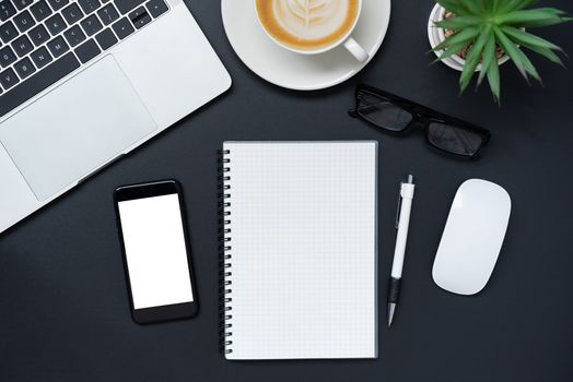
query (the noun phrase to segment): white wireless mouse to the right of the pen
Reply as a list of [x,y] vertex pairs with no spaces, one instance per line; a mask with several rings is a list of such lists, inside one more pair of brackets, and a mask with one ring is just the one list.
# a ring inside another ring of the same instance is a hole
[[440,287],[458,295],[483,289],[498,261],[511,210],[510,194],[495,183],[470,179],[459,187],[432,270]]

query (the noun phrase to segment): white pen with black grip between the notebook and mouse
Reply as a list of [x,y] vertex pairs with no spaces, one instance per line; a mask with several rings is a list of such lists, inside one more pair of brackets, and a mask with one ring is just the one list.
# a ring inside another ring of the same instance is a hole
[[408,176],[408,181],[400,183],[400,195],[398,212],[396,215],[396,248],[394,249],[394,262],[391,264],[390,286],[388,291],[388,327],[391,325],[394,312],[400,297],[400,279],[402,277],[404,256],[406,254],[406,241],[408,239],[408,226],[410,225],[410,212],[412,210],[413,176]]

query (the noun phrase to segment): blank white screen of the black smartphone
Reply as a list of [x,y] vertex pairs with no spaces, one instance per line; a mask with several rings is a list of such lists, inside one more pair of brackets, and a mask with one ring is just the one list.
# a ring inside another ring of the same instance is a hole
[[194,300],[179,196],[118,203],[133,308]]

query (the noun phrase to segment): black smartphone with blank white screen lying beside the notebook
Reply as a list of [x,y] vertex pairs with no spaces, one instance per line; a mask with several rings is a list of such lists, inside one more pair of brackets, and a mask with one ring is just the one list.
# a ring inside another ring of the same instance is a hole
[[180,184],[124,186],[114,200],[133,320],[192,317],[199,305]]

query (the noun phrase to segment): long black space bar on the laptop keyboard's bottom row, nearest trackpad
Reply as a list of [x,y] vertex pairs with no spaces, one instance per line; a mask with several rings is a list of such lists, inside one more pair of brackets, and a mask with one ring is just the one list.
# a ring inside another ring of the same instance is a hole
[[[2,96],[2,102],[0,103],[0,117],[63,79],[79,67],[80,61],[78,61],[71,52],[65,55],[61,59],[54,61],[54,63],[38,71],[33,77],[34,81],[25,81]],[[0,74],[0,83],[3,85],[2,81],[3,73]],[[7,87],[4,86],[4,88]]]

